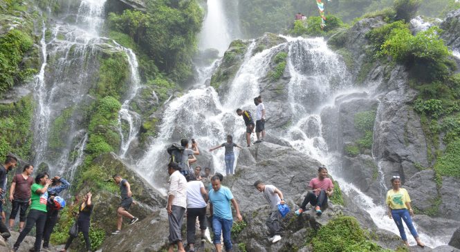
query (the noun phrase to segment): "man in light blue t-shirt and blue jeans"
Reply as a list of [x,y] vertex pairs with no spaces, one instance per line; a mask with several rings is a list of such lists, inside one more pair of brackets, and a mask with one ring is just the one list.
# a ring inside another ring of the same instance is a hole
[[226,251],[232,251],[232,240],[230,240],[230,231],[233,225],[232,209],[230,202],[237,212],[238,221],[242,221],[243,217],[239,213],[239,206],[234,199],[232,192],[226,186],[221,186],[221,178],[217,175],[212,177],[212,190],[209,192],[210,212],[212,215],[212,230],[214,231],[214,246],[216,251],[221,252],[221,234],[223,235],[223,244],[226,246]]

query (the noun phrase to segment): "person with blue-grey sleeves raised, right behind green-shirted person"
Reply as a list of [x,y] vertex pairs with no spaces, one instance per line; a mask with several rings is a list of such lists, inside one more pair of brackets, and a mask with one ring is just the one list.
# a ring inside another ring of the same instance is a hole
[[59,196],[59,193],[71,187],[71,183],[67,182],[67,180],[59,176],[53,177],[53,179],[51,179],[51,182],[51,186],[48,188],[48,203],[46,204],[46,222],[43,231],[44,249],[48,249],[51,233],[53,233],[53,229],[57,223],[57,215],[59,214],[60,210],[55,208],[53,198]]

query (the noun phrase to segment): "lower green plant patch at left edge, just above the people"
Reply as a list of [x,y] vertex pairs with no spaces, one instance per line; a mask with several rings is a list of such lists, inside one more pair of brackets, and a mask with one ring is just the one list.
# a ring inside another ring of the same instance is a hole
[[29,95],[13,104],[0,104],[0,160],[8,153],[30,159],[34,109],[31,99]]

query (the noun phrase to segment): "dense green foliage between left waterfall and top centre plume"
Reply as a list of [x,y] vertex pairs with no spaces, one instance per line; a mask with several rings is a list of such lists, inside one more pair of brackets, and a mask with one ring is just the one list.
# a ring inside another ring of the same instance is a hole
[[113,32],[129,35],[160,71],[172,79],[185,81],[192,75],[192,56],[202,19],[201,8],[194,0],[149,1],[147,12],[110,13],[109,28],[112,37],[125,44],[131,41]]

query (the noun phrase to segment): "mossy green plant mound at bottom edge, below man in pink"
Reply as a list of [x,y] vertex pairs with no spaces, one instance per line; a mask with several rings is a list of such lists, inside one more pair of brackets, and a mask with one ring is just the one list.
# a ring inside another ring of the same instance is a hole
[[340,216],[322,226],[311,240],[313,251],[320,252],[374,252],[385,251],[369,240],[354,217]]

